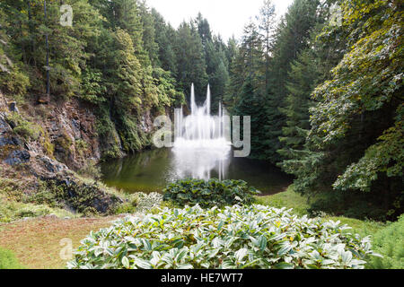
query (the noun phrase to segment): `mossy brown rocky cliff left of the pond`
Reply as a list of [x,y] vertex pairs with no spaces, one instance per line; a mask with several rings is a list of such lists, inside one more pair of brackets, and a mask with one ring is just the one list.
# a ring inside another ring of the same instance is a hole
[[[100,161],[110,142],[119,154],[125,154],[115,128],[109,138],[101,138],[100,121],[93,110],[76,99],[47,104],[32,99],[17,105],[0,92],[0,191],[10,188],[2,187],[2,182],[18,182],[11,186],[11,195],[18,200],[38,204],[36,195],[40,194],[43,204],[45,194],[46,204],[74,213],[114,213],[125,203],[125,196],[83,181],[76,173]],[[142,116],[139,129],[145,134],[153,131],[149,111]],[[7,198],[0,192],[0,201]]]

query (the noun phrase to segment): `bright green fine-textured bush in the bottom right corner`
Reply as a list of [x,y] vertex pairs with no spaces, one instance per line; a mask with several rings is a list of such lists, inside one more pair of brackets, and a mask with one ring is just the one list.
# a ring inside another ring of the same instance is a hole
[[374,234],[373,248],[383,257],[372,257],[369,268],[404,269],[404,215]]

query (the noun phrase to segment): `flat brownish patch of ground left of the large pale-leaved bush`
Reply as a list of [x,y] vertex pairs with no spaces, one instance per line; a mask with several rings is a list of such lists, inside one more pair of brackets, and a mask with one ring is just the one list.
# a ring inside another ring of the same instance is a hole
[[0,224],[0,247],[12,250],[20,263],[33,269],[64,268],[66,260],[60,257],[62,239],[71,239],[73,248],[91,230],[109,227],[119,216],[57,219],[40,218]]

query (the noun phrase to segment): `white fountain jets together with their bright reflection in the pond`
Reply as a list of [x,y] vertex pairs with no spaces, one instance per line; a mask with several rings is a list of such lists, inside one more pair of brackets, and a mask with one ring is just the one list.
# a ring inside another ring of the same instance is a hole
[[194,84],[190,96],[191,114],[184,117],[182,109],[175,110],[175,140],[172,152],[174,166],[180,176],[209,179],[211,171],[225,178],[232,143],[225,125],[225,110],[219,103],[217,116],[211,115],[211,93],[207,86],[206,101],[198,107]]

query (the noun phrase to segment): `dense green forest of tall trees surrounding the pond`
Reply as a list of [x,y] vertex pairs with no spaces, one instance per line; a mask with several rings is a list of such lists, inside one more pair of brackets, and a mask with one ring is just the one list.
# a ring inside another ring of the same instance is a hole
[[251,157],[294,175],[314,211],[392,219],[404,206],[402,5],[294,0],[277,21],[266,0],[225,41],[203,15],[175,29],[145,1],[2,0],[0,89],[88,102],[103,155],[119,157],[115,130],[123,152],[139,151],[145,110],[186,105],[191,83],[203,100],[210,83],[213,110],[251,116]]

